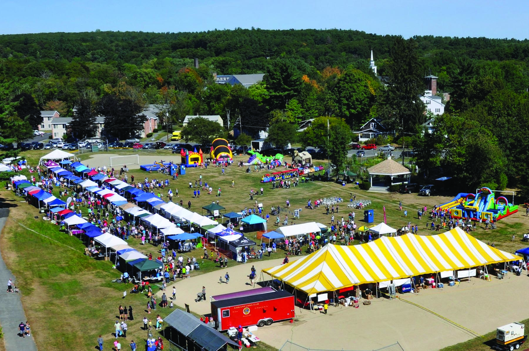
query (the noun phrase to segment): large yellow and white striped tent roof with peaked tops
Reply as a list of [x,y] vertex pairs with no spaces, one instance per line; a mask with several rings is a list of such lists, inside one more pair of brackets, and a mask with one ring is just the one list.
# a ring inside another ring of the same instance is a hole
[[420,274],[521,260],[463,232],[381,237],[354,246],[327,244],[299,260],[262,270],[307,294]]

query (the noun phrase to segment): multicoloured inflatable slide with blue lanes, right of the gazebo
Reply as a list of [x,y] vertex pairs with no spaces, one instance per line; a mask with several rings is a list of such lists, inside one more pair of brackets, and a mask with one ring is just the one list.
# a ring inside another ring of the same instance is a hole
[[495,199],[494,192],[489,188],[481,188],[475,194],[461,192],[439,208],[450,212],[454,218],[472,220],[498,220],[518,211],[518,205],[509,204],[505,197]]

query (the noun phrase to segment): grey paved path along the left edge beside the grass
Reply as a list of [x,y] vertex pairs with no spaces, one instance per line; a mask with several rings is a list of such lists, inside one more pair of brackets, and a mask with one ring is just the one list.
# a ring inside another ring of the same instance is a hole
[[[4,228],[5,221],[9,215],[9,209],[0,209],[0,233]],[[8,293],[7,281],[13,278],[16,285],[16,277],[7,269],[5,262],[0,254],[0,282],[4,282],[4,288],[0,288],[0,323],[4,332],[4,344],[7,351],[37,351],[37,345],[33,337],[19,336],[19,324],[26,321],[20,294]],[[30,321],[31,324],[31,321]]]

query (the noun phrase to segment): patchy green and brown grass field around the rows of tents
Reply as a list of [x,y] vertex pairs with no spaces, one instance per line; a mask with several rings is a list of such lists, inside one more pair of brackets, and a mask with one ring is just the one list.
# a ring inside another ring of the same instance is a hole
[[[35,165],[39,158],[48,153],[48,150],[24,152],[30,165]],[[130,152],[112,152],[117,154],[131,154]],[[141,154],[141,153],[140,153]],[[160,158],[170,154],[167,151],[159,153]],[[158,155],[158,154],[157,154]],[[80,155],[81,160],[87,160],[91,153]],[[237,156],[236,161],[247,159],[248,156]],[[93,162],[89,162],[94,167]],[[323,161],[322,161],[323,163]],[[146,176],[165,180],[167,177],[159,173],[146,173],[140,170],[131,170],[136,180],[142,180]],[[206,195],[204,192],[200,198],[193,198],[193,189],[189,189],[188,182],[194,183],[202,174],[203,181],[208,182],[214,189],[214,195]],[[263,172],[245,173],[244,168],[235,165],[226,169],[226,174],[221,174],[221,169],[209,167],[206,169],[188,168],[186,175],[181,175],[177,181],[170,180],[170,188],[175,192],[179,190],[179,198],[174,197],[177,202],[183,199],[184,204],[191,201],[191,210],[202,214],[202,206],[210,204],[212,201],[220,201],[227,211],[240,211],[245,207],[254,206],[254,201],[250,200],[250,189],[264,189],[264,195],[257,196],[258,202],[262,202],[263,207],[269,210],[271,206],[285,206],[288,199],[291,204],[290,211],[295,208],[302,208],[300,219],[293,220],[288,214],[289,223],[304,223],[307,221],[318,221],[324,224],[330,223],[330,215],[326,216],[324,208],[308,210],[305,209],[307,200],[316,198],[339,196],[344,198],[343,205],[340,206],[339,216],[348,214],[346,201],[349,200],[350,193],[357,194],[357,199],[367,198],[372,201],[370,209],[375,210],[375,223],[382,221],[382,207],[386,207],[388,225],[395,228],[404,226],[407,221],[419,226],[419,234],[436,234],[424,229],[426,219],[418,220],[416,212],[418,208],[427,206],[431,208],[434,204],[441,204],[450,200],[451,196],[419,197],[416,194],[402,195],[398,193],[371,193],[359,190],[358,187],[348,184],[342,187],[334,182],[309,182],[299,184],[296,188],[271,189],[269,183],[262,184],[260,179]],[[235,187],[231,188],[232,180]],[[222,196],[217,198],[216,189],[222,189]],[[56,194],[57,196],[58,194]],[[167,200],[167,189],[162,191],[162,195]],[[448,195],[448,194],[447,194]],[[5,189],[0,191],[0,201],[3,206],[11,208],[11,214],[7,220],[4,234],[2,236],[2,254],[8,267],[16,276],[16,284],[21,288],[22,302],[24,304],[26,316],[32,324],[32,331],[37,341],[39,349],[43,350],[70,350],[72,347],[78,349],[93,349],[96,346],[96,339],[99,334],[103,334],[105,346],[110,347],[113,341],[111,332],[116,320],[117,308],[120,304],[131,305],[134,309],[134,321],[129,323],[129,333],[127,340],[134,339],[138,345],[143,345],[146,332],[140,329],[141,319],[147,315],[145,306],[147,298],[141,294],[127,294],[123,297],[124,290],[130,290],[130,286],[124,288],[122,284],[111,283],[119,272],[112,269],[112,264],[105,261],[96,261],[84,255],[84,245],[76,237],[61,233],[57,226],[51,225],[41,220],[38,210],[33,206],[21,202],[12,191]],[[403,202],[404,209],[408,210],[408,218],[404,218],[403,211],[398,210],[399,201]],[[35,218],[35,216],[37,218]],[[356,211],[357,221],[363,217],[362,211]],[[284,214],[281,215],[281,222]],[[275,228],[275,217],[268,223],[268,229]],[[362,224],[362,222],[359,222]],[[485,242],[495,242],[500,250],[513,252],[517,248],[524,247],[521,243],[522,233],[527,232],[527,217],[521,213],[510,216],[498,222],[498,229],[485,231],[478,228],[472,232],[478,239]],[[512,235],[516,235],[516,241],[512,242]],[[249,238],[256,238],[256,233],[248,233]],[[358,242],[355,242],[357,244]],[[129,238],[129,244],[144,253],[158,254],[157,247],[152,245],[142,246],[139,239]],[[188,253],[187,256],[200,257],[201,250]],[[272,258],[281,257],[282,253],[272,255]],[[267,259],[267,256],[263,256]],[[211,261],[201,262],[201,270],[194,271],[195,274],[203,274],[220,269]],[[237,264],[234,261],[231,265]],[[170,293],[168,294],[170,295]],[[178,297],[175,302],[178,305]],[[153,311],[154,312],[154,311]],[[157,313],[165,317],[170,310],[158,308]],[[149,315],[156,320],[156,313]],[[481,350],[482,341],[471,340],[475,344],[467,346],[455,345],[450,350],[471,349]],[[469,343],[471,343],[469,341]],[[460,347],[460,348],[457,348]],[[344,347],[345,348],[345,347]],[[1,349],[1,348],[0,348]],[[259,349],[273,349],[266,344],[259,346]]]

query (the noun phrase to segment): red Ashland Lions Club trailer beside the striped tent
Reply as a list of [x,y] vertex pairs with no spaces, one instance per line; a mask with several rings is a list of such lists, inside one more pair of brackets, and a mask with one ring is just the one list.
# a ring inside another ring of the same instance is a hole
[[294,318],[294,295],[281,290],[211,301],[211,316],[218,330],[269,326],[273,322]]

